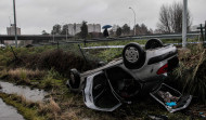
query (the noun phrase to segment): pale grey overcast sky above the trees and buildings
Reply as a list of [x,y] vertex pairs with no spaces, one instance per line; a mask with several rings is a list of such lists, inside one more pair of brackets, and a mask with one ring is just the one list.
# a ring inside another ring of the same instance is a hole
[[[17,26],[22,35],[39,35],[42,30],[51,32],[55,24],[81,23],[106,25],[128,24],[133,26],[133,13],[137,23],[144,23],[155,29],[158,13],[163,4],[183,0],[15,0]],[[193,25],[206,21],[206,0],[188,0]],[[7,27],[13,23],[13,0],[0,0],[0,34],[7,34]]]

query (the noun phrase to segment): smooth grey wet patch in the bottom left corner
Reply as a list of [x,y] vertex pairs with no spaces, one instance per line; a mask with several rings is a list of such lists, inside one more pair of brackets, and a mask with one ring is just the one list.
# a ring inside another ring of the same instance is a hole
[[17,114],[17,110],[14,107],[8,106],[0,98],[0,120],[25,120],[25,119],[22,117],[22,115]]

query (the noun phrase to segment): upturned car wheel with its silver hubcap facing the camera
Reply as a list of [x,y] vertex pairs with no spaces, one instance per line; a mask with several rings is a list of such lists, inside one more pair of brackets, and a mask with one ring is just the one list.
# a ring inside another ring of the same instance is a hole
[[128,69],[139,69],[144,65],[145,52],[138,43],[129,43],[123,50],[124,65]]

